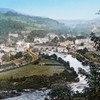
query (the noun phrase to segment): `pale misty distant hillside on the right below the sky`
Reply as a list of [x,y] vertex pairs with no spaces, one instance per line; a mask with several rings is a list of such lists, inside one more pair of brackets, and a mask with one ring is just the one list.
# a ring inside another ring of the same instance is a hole
[[93,20],[58,20],[70,28],[73,35],[89,36],[91,32],[100,35],[100,19]]

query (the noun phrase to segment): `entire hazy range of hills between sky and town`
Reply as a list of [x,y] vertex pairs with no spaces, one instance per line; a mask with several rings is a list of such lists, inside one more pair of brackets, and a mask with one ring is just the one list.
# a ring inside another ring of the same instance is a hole
[[99,35],[100,20],[56,21],[46,17],[24,15],[8,8],[0,8],[0,36],[7,36],[9,32],[32,33],[34,36],[36,34],[44,36],[48,32],[84,36],[89,36],[91,32],[95,32]]

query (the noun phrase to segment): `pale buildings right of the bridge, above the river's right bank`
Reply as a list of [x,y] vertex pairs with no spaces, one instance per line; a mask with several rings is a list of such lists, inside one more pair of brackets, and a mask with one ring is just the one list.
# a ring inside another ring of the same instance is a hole
[[90,38],[76,39],[75,41],[67,40],[64,42],[58,42],[57,48],[58,52],[76,51],[84,48],[87,48],[89,51],[95,50],[94,43],[90,40]]

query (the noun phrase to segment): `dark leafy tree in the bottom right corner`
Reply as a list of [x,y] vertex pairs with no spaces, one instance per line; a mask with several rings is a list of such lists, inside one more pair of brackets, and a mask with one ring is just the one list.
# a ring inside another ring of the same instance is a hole
[[88,100],[100,99],[100,65],[90,63],[90,73],[87,76],[88,85],[83,92]]

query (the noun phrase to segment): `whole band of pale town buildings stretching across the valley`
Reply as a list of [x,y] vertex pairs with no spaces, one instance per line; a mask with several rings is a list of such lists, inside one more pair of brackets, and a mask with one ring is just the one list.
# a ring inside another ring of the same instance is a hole
[[[87,48],[89,51],[93,51],[94,49],[94,43],[90,40],[90,38],[85,39],[76,39],[74,41],[67,40],[67,38],[63,35],[63,38],[66,38],[65,41],[61,42],[58,41],[56,46],[46,46],[41,44],[46,44],[51,42],[55,37],[59,39],[59,35],[56,35],[54,33],[48,33],[45,37],[35,37],[34,41],[32,43],[25,42],[24,39],[18,40],[17,42],[14,42],[11,37],[17,38],[18,34],[9,34],[7,43],[0,44],[0,62],[2,62],[2,56],[5,54],[11,54],[15,55],[17,52],[26,52],[28,48],[32,47],[36,52],[45,52],[48,51],[54,51],[59,53],[67,53],[70,51],[75,52],[79,49]],[[14,45],[13,45],[14,44]]]

